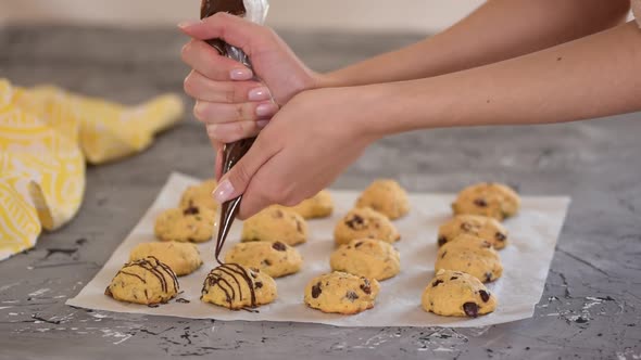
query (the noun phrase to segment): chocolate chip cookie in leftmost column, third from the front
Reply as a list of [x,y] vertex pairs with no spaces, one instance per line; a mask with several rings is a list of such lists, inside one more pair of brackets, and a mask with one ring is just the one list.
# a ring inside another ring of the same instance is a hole
[[154,233],[162,241],[202,243],[212,239],[216,214],[196,205],[163,211],[155,219]]

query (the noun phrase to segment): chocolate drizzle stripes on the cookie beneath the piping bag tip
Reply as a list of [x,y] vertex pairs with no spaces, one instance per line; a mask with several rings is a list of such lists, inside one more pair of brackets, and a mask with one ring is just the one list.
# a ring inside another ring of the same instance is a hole
[[[243,298],[242,283],[244,282],[249,288],[249,308],[255,308],[257,306],[255,290],[262,287],[263,284],[260,283],[261,286],[256,286],[259,282],[254,284],[252,278],[255,278],[255,274],[253,274],[252,271],[253,270],[248,271],[244,267],[238,263],[222,263],[210,271],[204,281],[201,293],[204,295],[211,287],[219,287],[223,293],[225,293],[225,298],[229,303],[229,308],[232,309],[234,299],[242,300]],[[228,278],[231,278],[231,281],[228,281]]]

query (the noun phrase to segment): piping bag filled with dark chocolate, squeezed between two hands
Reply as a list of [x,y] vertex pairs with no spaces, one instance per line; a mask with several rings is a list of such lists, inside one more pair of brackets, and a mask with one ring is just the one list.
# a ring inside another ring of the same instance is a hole
[[[263,24],[269,4],[267,0],[202,0],[200,7],[200,18],[212,16],[218,12],[226,12],[232,15],[242,16],[253,23]],[[235,60],[253,70],[249,56],[239,48],[232,47],[222,39],[211,39],[206,41],[210,46],[218,51],[223,56]],[[260,79],[254,78],[260,81]],[[223,154],[223,173],[226,173],[247,154],[255,138],[242,139],[239,141],[225,144]],[[218,221],[218,232],[216,235],[215,258],[218,259],[225,239],[229,233],[231,223],[240,208],[242,195],[225,202],[221,205],[221,219]]]

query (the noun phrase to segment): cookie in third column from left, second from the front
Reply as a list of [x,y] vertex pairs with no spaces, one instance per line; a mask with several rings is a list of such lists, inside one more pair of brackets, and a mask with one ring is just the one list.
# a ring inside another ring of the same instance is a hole
[[335,271],[385,280],[401,270],[401,255],[392,245],[380,240],[356,239],[336,249],[329,265]]

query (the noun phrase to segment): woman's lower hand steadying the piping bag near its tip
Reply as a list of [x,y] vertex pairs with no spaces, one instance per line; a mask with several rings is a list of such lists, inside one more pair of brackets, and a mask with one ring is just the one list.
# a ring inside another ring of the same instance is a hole
[[294,97],[214,191],[223,203],[243,194],[239,217],[271,204],[291,206],[330,184],[378,134],[370,126],[385,99],[365,88],[329,88]]

